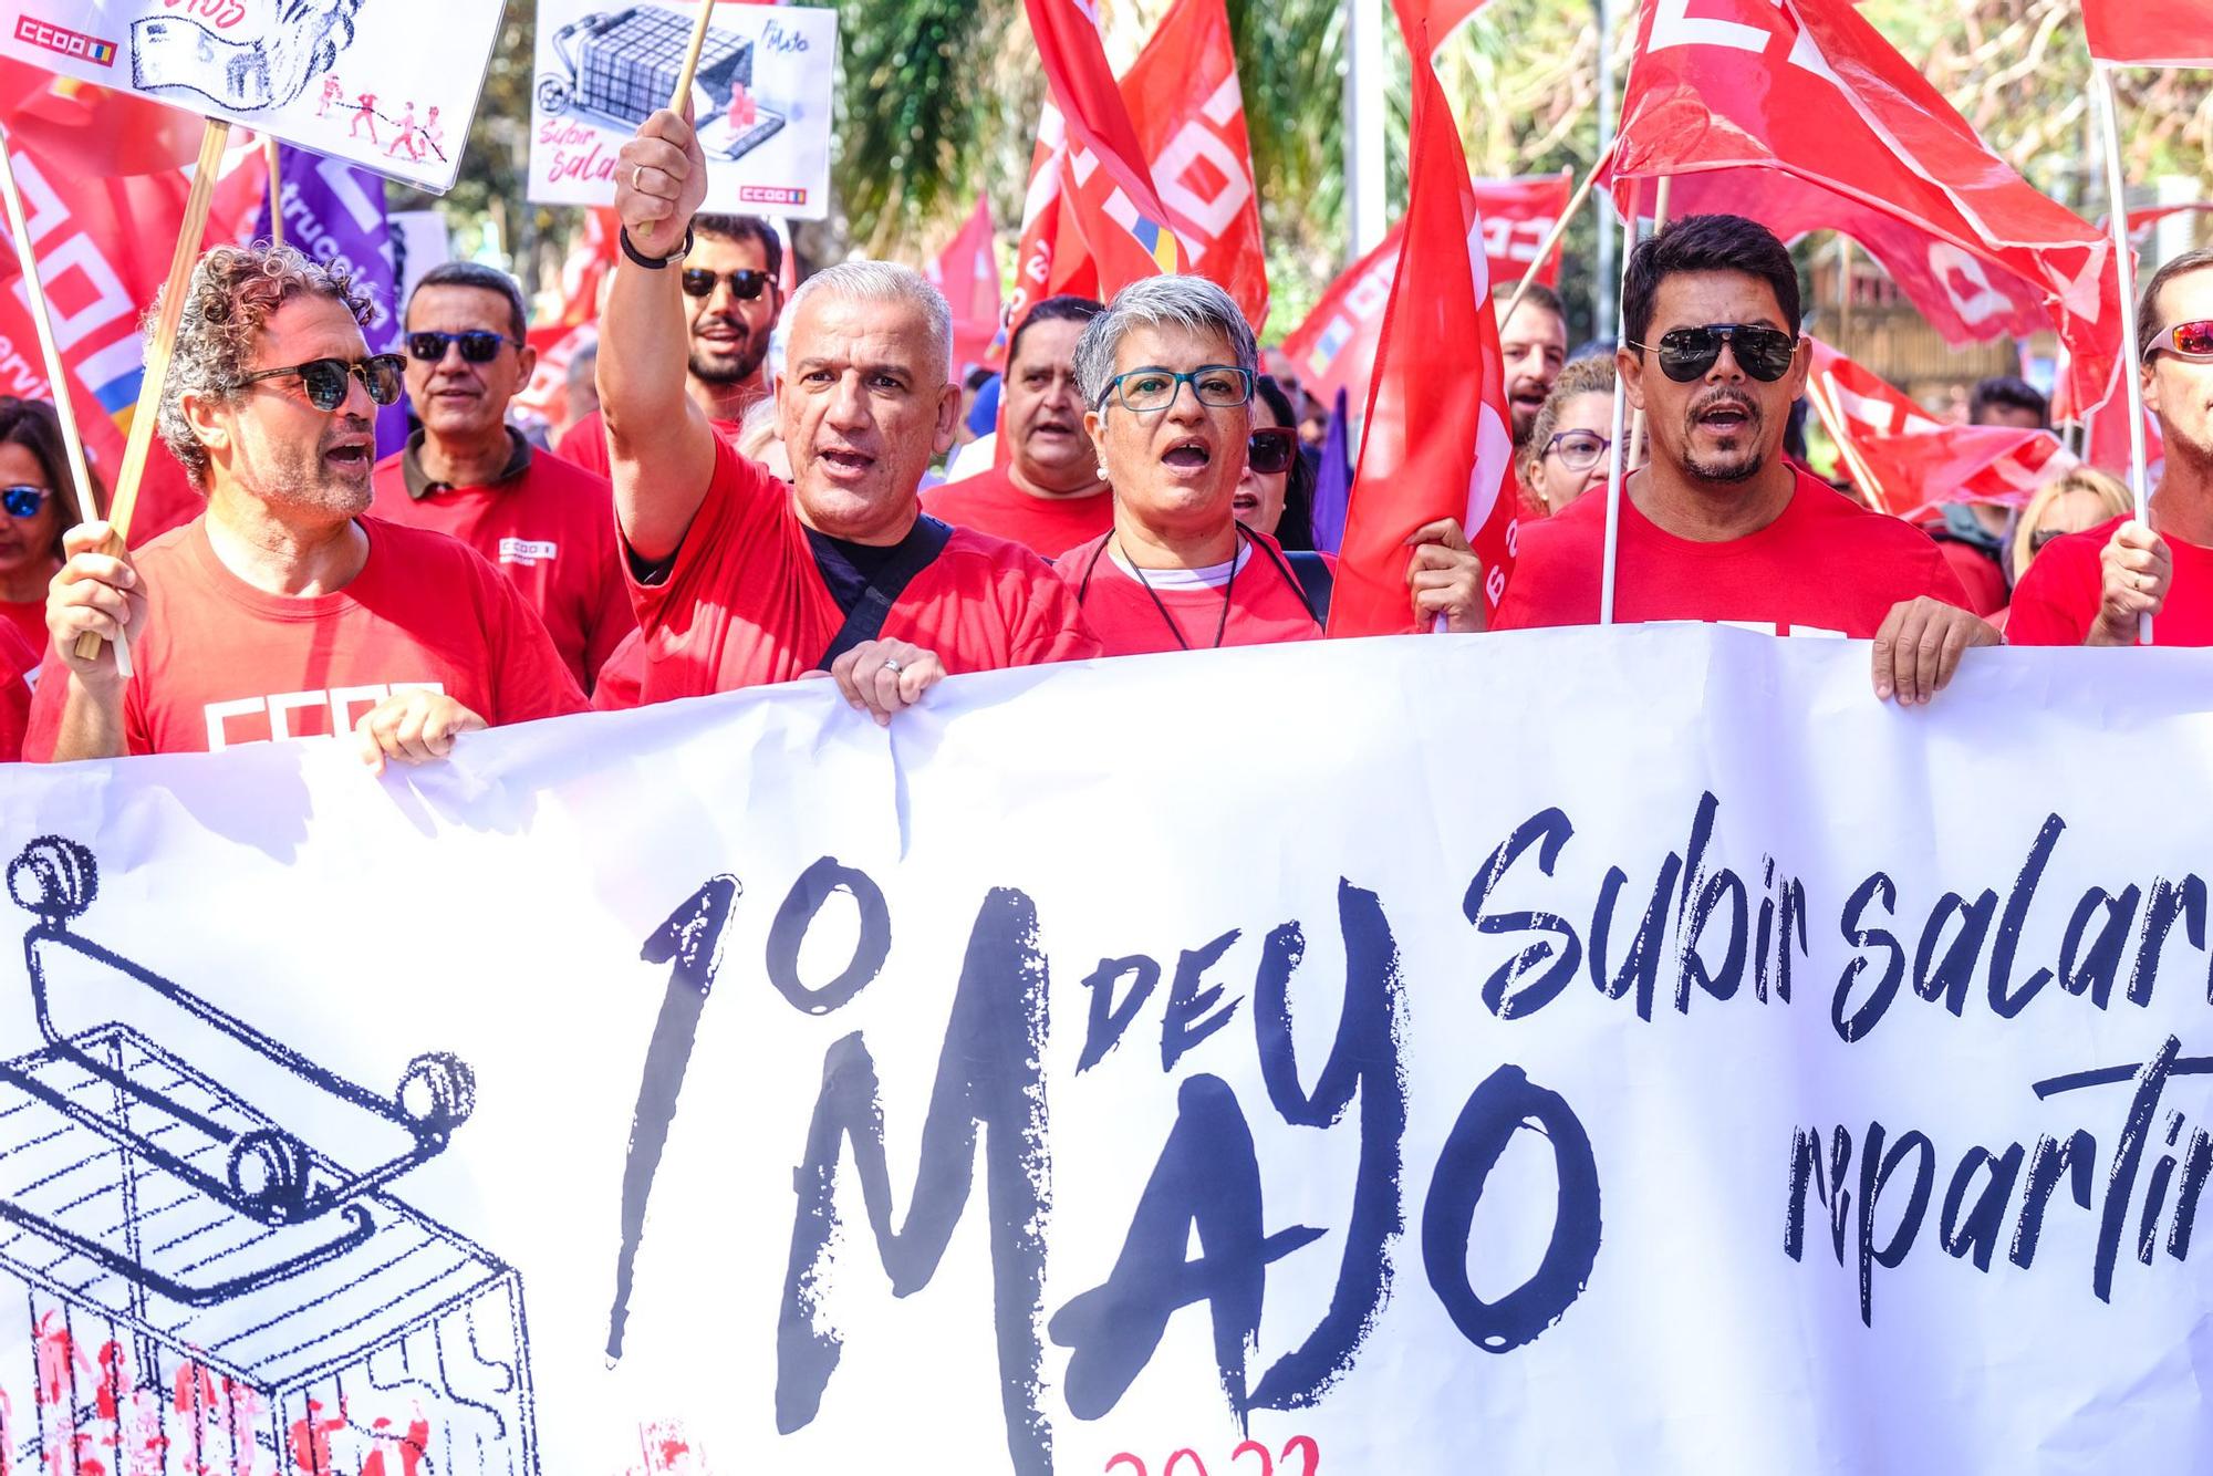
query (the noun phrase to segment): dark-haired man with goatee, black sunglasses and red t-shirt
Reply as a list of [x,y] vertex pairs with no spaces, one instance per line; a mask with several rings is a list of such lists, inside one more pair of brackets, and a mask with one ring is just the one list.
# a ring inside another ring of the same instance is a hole
[[[1928,701],[1998,633],[1928,533],[1781,458],[1806,387],[1797,321],[1797,268],[1766,226],[1693,215],[1631,254],[1615,365],[1651,465],[1622,482],[1613,617],[1874,637],[1874,695]],[[1525,524],[1492,628],[1598,624],[1604,531],[1604,496]]]

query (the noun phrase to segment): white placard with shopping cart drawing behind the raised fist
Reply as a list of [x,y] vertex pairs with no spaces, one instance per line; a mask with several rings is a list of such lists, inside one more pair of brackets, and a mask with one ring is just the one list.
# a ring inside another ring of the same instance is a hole
[[[538,0],[531,199],[604,206],[615,155],[684,66],[695,7]],[[717,4],[693,80],[708,210],[821,219],[830,212],[830,84],[837,11]]]

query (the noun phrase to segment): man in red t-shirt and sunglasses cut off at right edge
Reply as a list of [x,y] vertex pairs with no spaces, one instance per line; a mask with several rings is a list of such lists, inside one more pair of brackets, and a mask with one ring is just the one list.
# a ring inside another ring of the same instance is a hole
[[2016,646],[2213,646],[2213,250],[2175,257],[2144,283],[2136,319],[2144,409],[2167,467],[2151,527],[2113,518],[2054,540],[2014,586]]

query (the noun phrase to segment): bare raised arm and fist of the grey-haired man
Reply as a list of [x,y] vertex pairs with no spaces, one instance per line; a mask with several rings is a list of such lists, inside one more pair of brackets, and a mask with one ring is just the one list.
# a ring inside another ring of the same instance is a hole
[[[615,157],[615,217],[646,259],[682,257],[706,199],[706,155],[693,126],[662,108]],[[653,270],[628,252],[600,316],[600,416],[606,420],[615,518],[631,551],[662,562],[684,542],[715,476],[715,429],[684,392],[690,367],[682,261]]]

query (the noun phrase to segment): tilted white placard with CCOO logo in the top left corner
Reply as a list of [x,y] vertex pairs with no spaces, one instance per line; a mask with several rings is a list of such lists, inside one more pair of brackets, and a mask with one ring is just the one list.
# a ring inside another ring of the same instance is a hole
[[0,55],[436,193],[498,29],[496,0],[0,0]]

